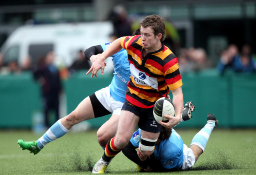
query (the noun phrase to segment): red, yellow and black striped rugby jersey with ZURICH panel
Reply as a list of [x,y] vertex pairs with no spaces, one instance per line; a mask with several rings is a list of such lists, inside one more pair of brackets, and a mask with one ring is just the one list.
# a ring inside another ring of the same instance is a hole
[[126,99],[141,108],[154,107],[169,90],[182,86],[178,58],[166,46],[142,55],[141,35],[123,37],[121,46],[128,53],[131,77],[127,83]]

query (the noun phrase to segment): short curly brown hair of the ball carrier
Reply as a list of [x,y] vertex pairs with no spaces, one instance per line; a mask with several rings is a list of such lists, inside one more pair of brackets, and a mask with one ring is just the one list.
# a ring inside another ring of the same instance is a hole
[[165,40],[165,20],[158,15],[149,15],[140,23],[141,27],[152,27],[154,35],[162,34],[161,41]]

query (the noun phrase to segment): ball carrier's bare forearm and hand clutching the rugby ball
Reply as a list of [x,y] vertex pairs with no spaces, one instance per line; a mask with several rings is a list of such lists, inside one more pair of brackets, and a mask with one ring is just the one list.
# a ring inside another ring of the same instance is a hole
[[177,125],[180,122],[181,113],[183,109],[183,93],[182,93],[182,87],[176,88],[174,90],[171,90],[173,94],[173,105],[175,108],[175,117],[174,116],[168,116],[164,115],[166,118],[169,118],[169,122],[161,122],[159,123],[163,125],[163,127],[167,128],[173,128],[175,125]]

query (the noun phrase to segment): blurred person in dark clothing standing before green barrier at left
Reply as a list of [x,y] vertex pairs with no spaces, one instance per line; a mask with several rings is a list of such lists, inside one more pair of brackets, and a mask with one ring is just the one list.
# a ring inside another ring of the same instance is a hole
[[47,53],[38,61],[37,69],[33,71],[34,78],[39,82],[42,88],[43,109],[45,115],[45,125],[50,127],[49,112],[54,110],[55,120],[59,120],[59,94],[62,90],[61,80],[58,68],[53,64],[54,53]]

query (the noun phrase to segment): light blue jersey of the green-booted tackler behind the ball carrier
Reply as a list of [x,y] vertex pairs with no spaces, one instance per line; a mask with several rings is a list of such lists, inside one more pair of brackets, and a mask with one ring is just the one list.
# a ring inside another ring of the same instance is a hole
[[[101,44],[102,49],[106,50],[109,44],[111,44],[111,42]],[[110,84],[110,94],[115,100],[124,103],[127,89],[126,84],[131,76],[128,55],[126,50],[122,49],[111,57],[114,64],[114,77]]]

